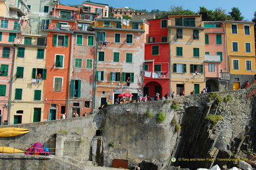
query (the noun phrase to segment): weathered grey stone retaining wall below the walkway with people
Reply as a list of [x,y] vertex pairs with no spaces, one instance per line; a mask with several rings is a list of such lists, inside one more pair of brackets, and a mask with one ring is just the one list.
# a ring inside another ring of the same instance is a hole
[[[95,161],[100,166],[111,166],[113,159],[128,159],[129,166],[146,160],[155,161],[160,166],[210,168],[216,161],[183,159],[235,156],[243,142],[241,136],[254,134],[250,127],[255,118],[255,97],[246,97],[254,89],[255,85],[252,85],[248,89],[218,92],[219,97],[232,96],[231,101],[220,104],[216,104],[216,98],[209,101],[210,94],[196,94],[167,101],[110,105],[87,117],[20,124],[21,128],[30,129],[30,133],[1,137],[0,146],[24,150],[33,143],[49,145],[56,139],[56,157],[64,158],[66,154],[78,161]],[[172,108],[174,102],[179,105],[176,110]],[[145,115],[148,110],[153,117]],[[162,123],[156,121],[159,111],[166,116]],[[223,117],[214,129],[206,120],[209,114]],[[178,133],[172,125],[173,118],[181,126]],[[101,128],[102,138],[95,136]],[[61,130],[68,131],[67,136],[60,133]],[[255,140],[253,137],[245,139]],[[245,146],[254,147],[253,143]],[[177,161],[171,162],[172,157]]]

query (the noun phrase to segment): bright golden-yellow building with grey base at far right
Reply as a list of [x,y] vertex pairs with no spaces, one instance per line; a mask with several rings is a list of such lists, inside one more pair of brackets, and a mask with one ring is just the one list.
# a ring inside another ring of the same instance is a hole
[[239,89],[244,82],[254,81],[255,39],[254,23],[225,21],[226,56],[230,72],[229,89]]

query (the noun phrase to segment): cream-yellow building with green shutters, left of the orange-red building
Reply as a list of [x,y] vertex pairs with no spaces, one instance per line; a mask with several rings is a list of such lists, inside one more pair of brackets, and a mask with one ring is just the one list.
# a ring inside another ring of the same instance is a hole
[[45,39],[45,36],[23,34],[20,44],[15,47],[9,124],[43,120]]

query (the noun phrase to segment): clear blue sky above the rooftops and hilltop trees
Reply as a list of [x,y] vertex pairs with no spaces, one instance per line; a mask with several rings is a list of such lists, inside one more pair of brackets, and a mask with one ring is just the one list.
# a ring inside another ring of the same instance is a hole
[[[133,9],[146,9],[151,12],[152,9],[159,9],[160,11],[169,11],[171,5],[176,7],[182,6],[183,9],[189,9],[193,12],[198,12],[199,7],[206,7],[209,10],[215,10],[215,8],[226,9],[226,14],[231,12],[233,7],[239,8],[244,20],[251,21],[254,18],[254,12],[256,11],[256,0],[91,0],[101,4],[108,4],[110,7],[121,8],[129,7]],[[63,5],[81,5],[82,0],[60,0],[60,4]],[[244,4],[244,2],[246,2]]]

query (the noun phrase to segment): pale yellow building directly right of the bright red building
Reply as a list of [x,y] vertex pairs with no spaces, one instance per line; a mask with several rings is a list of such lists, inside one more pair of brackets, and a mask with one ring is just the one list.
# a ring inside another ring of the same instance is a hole
[[206,88],[201,15],[169,16],[168,28],[171,89],[175,94],[190,94],[193,89],[198,94]]

